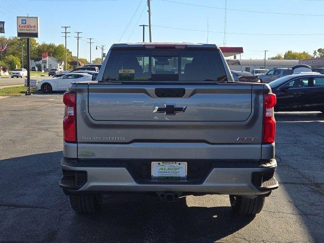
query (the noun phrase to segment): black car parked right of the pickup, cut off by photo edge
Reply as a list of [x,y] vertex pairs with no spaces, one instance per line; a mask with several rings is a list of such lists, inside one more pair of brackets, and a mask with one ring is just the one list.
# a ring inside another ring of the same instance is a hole
[[275,111],[324,112],[324,75],[293,74],[278,78],[269,86],[277,96]]

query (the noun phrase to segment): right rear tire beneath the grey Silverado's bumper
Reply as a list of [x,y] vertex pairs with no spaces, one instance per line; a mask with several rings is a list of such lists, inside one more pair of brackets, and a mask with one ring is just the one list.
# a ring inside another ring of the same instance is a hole
[[256,215],[261,212],[265,197],[258,196],[254,199],[245,196],[229,195],[233,211],[239,215]]

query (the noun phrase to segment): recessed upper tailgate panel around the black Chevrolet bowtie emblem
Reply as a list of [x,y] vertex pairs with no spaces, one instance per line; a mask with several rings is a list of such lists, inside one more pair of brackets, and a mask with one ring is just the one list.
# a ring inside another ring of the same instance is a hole
[[[89,114],[102,121],[245,121],[252,113],[251,85],[187,86],[181,98],[158,97],[156,89],[183,86],[89,85]],[[179,92],[180,92],[179,91]],[[155,107],[187,107],[176,115],[153,113]]]

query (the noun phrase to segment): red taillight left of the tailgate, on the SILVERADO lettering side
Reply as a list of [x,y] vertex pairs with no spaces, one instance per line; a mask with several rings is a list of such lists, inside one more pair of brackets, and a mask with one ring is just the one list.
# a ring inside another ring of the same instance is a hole
[[75,92],[65,92],[63,95],[65,104],[63,118],[64,141],[76,143],[76,94]]

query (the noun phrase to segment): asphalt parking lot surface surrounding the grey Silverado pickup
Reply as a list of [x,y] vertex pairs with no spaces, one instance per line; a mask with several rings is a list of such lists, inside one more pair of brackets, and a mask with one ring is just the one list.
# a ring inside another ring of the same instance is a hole
[[279,189],[255,218],[227,195],[164,204],[107,195],[101,214],[76,215],[58,186],[62,94],[0,99],[0,242],[322,242],[324,114],[276,113]]

